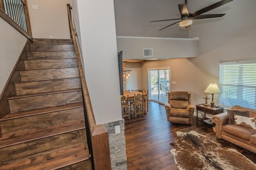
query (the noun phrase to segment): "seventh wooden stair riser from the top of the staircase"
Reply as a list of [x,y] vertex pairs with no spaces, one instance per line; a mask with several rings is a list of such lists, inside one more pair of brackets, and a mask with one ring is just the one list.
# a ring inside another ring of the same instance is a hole
[[82,92],[66,92],[8,100],[11,113],[82,102]]

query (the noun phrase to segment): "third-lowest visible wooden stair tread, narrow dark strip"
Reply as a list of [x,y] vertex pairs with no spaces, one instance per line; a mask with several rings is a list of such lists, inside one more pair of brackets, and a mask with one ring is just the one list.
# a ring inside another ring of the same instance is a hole
[[60,105],[60,106],[53,106],[53,107],[46,107],[46,108],[40,108],[40,109],[34,109],[34,110],[28,110],[28,111],[21,111],[21,112],[16,112],[16,113],[10,113],[10,114],[6,115],[5,117],[3,117],[2,119],[0,119],[0,121],[16,119],[16,118],[20,118],[20,117],[28,117],[28,116],[32,116],[32,115],[39,115],[39,114],[67,110],[67,109],[74,109],[77,107],[83,107],[83,102]]

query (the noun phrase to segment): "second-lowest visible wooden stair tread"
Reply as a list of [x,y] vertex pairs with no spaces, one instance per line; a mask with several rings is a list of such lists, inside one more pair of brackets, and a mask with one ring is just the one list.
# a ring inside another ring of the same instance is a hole
[[17,145],[28,141],[34,141],[37,139],[42,139],[45,137],[59,135],[62,133],[67,133],[80,129],[85,129],[84,121],[74,121],[57,126],[46,127],[32,131],[25,131],[22,133],[15,133],[12,135],[6,135],[0,138],[0,148]]

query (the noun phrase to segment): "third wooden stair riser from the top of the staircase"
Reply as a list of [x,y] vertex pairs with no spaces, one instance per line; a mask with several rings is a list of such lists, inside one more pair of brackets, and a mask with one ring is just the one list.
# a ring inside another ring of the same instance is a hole
[[31,51],[27,53],[29,60],[76,58],[74,51]]

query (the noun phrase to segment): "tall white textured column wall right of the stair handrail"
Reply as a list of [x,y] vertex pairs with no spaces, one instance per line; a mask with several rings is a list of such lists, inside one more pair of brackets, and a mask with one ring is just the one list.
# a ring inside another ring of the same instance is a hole
[[[122,119],[113,0],[77,0],[85,77],[97,124]],[[76,10],[75,10],[76,9]]]

